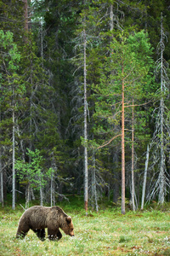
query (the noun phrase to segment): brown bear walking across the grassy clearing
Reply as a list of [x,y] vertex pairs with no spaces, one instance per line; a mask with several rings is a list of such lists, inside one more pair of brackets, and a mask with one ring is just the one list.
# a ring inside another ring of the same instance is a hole
[[48,228],[48,238],[50,240],[59,240],[62,237],[59,228],[66,235],[74,236],[71,217],[60,207],[36,206],[27,209],[21,216],[16,237],[25,237],[31,229],[43,241],[45,239],[45,228]]

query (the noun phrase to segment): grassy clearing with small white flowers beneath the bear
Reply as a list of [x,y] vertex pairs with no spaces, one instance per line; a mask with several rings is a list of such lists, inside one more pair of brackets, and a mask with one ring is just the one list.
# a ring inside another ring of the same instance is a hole
[[60,204],[71,215],[75,236],[60,241],[40,241],[30,230],[25,239],[15,238],[23,209],[0,207],[0,255],[170,255],[170,207],[143,212],[127,211],[122,215],[117,207],[85,212]]

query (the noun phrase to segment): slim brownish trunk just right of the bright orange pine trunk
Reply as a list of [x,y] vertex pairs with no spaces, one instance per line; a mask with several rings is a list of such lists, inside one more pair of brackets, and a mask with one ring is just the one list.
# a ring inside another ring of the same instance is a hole
[[134,203],[134,107],[133,107],[133,119],[132,119],[132,203],[133,203],[133,211],[135,211],[135,203]]

